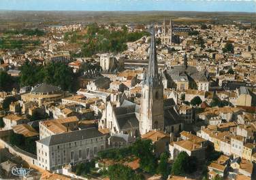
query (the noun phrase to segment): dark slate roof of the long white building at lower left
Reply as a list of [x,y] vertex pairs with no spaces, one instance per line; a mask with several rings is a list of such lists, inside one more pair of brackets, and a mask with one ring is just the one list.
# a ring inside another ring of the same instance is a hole
[[54,134],[50,137],[46,137],[37,141],[38,143],[42,143],[47,146],[59,145],[63,143],[70,143],[74,141],[81,141],[83,139],[91,139],[95,137],[103,137],[105,136],[97,128],[87,128],[83,130],[76,130],[72,132],[65,132],[62,134]]

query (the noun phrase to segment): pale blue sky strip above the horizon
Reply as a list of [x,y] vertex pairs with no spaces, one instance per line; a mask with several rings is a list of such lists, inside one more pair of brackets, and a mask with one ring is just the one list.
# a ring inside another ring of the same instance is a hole
[[256,12],[256,0],[0,0],[0,10]]

